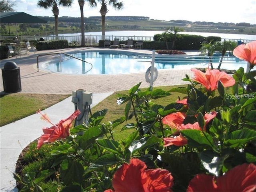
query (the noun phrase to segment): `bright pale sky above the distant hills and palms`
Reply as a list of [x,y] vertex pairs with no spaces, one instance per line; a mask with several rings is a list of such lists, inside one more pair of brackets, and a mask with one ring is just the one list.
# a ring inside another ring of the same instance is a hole
[[[37,0],[10,0],[16,12],[33,16],[53,16],[51,8],[37,7]],[[188,20],[192,22],[246,22],[256,24],[256,0],[120,0],[122,10],[108,6],[106,16],[147,16],[155,20]],[[59,7],[61,16],[80,17],[78,0],[72,8]],[[84,17],[100,16],[100,4],[91,8],[84,5]]]

